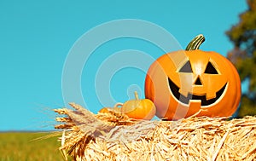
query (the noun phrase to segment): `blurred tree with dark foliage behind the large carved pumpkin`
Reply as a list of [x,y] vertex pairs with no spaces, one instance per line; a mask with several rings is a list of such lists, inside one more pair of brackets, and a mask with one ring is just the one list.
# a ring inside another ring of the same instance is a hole
[[247,5],[248,9],[240,14],[240,21],[226,32],[234,43],[228,58],[236,66],[241,81],[248,80],[247,93],[241,97],[240,118],[256,115],[256,0],[247,0]]

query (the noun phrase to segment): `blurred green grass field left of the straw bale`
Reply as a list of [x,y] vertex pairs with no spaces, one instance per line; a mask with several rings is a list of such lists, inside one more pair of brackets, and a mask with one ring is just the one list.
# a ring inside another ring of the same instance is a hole
[[[0,133],[0,161],[62,161],[58,136],[48,139],[50,133]],[[41,138],[38,141],[35,139]]]

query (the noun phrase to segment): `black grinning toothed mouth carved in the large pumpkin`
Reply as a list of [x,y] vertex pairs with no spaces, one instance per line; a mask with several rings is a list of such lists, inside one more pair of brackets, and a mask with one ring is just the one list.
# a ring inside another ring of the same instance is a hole
[[179,88],[177,87],[177,85],[175,83],[172,82],[172,80],[170,78],[168,78],[169,81],[169,87],[172,91],[172,94],[175,96],[175,98],[178,101],[183,102],[184,104],[189,104],[190,100],[201,100],[201,106],[207,106],[207,105],[211,105],[212,103],[214,103],[215,101],[218,100],[219,97],[221,97],[221,95],[224,93],[224,89],[227,86],[227,83],[224,84],[224,86],[218,90],[218,92],[216,93],[216,97],[212,98],[210,100],[207,100],[207,96],[206,95],[192,95],[189,94],[187,97],[180,94],[178,92]]

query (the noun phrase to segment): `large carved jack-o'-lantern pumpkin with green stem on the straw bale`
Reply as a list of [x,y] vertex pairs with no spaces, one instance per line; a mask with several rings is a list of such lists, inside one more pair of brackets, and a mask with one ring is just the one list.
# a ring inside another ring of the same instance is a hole
[[162,55],[149,67],[145,96],[154,101],[159,118],[228,117],[236,112],[241,99],[236,68],[224,56],[200,50],[204,40],[199,35],[186,50]]

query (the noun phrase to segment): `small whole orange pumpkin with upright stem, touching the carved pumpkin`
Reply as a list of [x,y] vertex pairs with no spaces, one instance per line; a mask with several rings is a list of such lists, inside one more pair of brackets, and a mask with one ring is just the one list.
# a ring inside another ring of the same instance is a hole
[[135,100],[125,101],[120,108],[120,112],[125,113],[129,118],[146,120],[154,118],[156,111],[154,103],[148,99],[139,100],[136,91],[134,95]]

